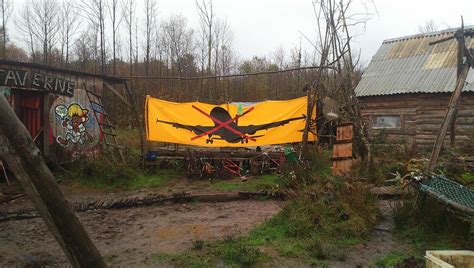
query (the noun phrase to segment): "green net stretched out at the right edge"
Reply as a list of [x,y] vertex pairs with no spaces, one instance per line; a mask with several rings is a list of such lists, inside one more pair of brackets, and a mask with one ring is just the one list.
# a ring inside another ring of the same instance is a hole
[[474,216],[474,191],[469,187],[443,175],[434,175],[431,180],[424,181],[419,189],[422,192],[429,192],[438,201],[469,214],[469,218]]

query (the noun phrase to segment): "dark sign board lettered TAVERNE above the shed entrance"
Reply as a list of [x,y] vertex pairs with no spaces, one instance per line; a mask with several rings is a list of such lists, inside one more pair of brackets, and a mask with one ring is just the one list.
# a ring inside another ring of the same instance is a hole
[[25,70],[0,68],[0,86],[35,88],[54,94],[73,96],[74,82],[61,77]]

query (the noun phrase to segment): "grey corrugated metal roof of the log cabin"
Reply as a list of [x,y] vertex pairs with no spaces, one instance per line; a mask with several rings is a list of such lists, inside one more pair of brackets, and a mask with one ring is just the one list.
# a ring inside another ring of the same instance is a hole
[[[467,28],[474,28],[470,26]],[[388,39],[382,43],[356,88],[357,96],[452,92],[456,83],[457,42],[430,46],[457,29]],[[474,39],[467,39],[474,47]],[[474,91],[474,70],[463,91]]]

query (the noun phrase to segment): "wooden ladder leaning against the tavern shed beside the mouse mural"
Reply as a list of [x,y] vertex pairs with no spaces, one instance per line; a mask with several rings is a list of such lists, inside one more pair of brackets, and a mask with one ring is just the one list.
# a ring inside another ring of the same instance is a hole
[[[118,151],[120,158],[122,159],[123,162],[125,162],[125,157],[123,154],[123,146],[121,146],[118,143],[117,140],[117,134],[115,132],[115,128],[110,122],[109,116],[105,112],[104,105],[102,104],[102,97],[98,95],[97,93],[90,91],[87,89],[87,87],[84,85],[87,98],[89,99],[89,102],[91,104],[92,111],[94,113],[95,120],[97,121],[97,124],[99,125],[100,133],[104,137],[104,142],[105,145],[109,148],[113,148]],[[94,100],[94,98],[97,101]],[[100,115],[102,115],[102,120],[100,118]]]

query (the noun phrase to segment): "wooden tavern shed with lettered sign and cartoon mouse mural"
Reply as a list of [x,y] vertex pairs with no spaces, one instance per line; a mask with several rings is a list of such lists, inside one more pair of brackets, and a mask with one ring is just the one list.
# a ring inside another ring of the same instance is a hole
[[0,94],[47,160],[100,153],[111,125],[101,98],[110,90],[125,100],[114,88],[123,83],[117,77],[0,60]]

